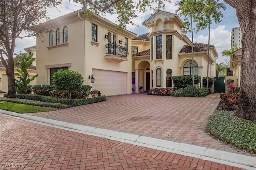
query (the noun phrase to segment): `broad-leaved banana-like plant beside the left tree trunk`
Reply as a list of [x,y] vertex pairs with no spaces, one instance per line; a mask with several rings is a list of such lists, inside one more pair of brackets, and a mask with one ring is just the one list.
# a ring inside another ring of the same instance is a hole
[[35,61],[35,58],[32,58],[33,53],[30,55],[18,55],[16,56],[16,60],[14,61],[15,66],[20,66],[20,69],[17,69],[17,73],[14,75],[18,76],[19,80],[15,80],[15,86],[17,93],[21,94],[30,94],[32,92],[30,82],[32,82],[38,74],[35,76],[32,76],[30,78],[30,75],[28,74],[28,67],[31,66],[32,62]]

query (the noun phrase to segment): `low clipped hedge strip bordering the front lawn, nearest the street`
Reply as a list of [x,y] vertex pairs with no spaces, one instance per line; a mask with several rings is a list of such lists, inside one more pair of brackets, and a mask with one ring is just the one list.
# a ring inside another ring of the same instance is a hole
[[12,103],[18,103],[18,104],[34,105],[34,106],[41,106],[41,107],[54,107],[54,108],[61,108],[61,109],[69,107],[66,104],[40,102],[40,101],[35,101],[35,100],[26,100],[26,99],[17,99],[17,98],[3,98],[3,97],[0,97],[0,101],[12,102]]

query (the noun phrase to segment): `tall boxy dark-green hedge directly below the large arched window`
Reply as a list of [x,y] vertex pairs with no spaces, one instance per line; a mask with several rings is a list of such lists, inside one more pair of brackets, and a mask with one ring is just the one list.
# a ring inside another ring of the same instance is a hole
[[[176,88],[184,88],[192,85],[192,76],[172,76]],[[201,76],[194,76],[194,84],[201,82]]]

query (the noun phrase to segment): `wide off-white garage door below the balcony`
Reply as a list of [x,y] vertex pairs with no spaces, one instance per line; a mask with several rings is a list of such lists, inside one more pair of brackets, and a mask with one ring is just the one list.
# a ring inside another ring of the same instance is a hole
[[100,90],[102,95],[112,96],[126,94],[126,72],[92,69],[95,82],[94,90]]

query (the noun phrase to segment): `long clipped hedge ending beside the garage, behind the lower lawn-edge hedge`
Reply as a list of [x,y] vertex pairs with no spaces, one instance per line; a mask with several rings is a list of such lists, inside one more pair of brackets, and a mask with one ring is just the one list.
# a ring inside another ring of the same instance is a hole
[[[5,96],[7,97],[7,95],[5,95]],[[28,99],[28,100],[37,100],[40,102],[61,103],[61,104],[67,104],[69,106],[80,106],[80,105],[85,105],[85,104],[102,102],[102,101],[106,100],[106,96],[96,96],[93,98],[86,98],[86,99],[61,99],[61,98],[54,98],[52,96],[42,96],[42,95],[38,95],[38,94],[10,94],[8,97],[9,98]]]

